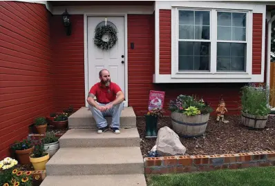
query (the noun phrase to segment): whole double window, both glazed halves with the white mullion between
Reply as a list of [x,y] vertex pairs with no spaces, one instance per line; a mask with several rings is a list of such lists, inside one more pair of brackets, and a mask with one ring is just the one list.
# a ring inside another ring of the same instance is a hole
[[176,74],[247,72],[247,12],[177,10]]

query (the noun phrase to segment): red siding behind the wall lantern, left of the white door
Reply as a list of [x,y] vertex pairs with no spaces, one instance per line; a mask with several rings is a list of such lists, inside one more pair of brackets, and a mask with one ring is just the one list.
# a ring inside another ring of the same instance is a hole
[[84,17],[72,15],[72,33],[66,35],[61,16],[53,16],[53,63],[56,110],[85,106]]

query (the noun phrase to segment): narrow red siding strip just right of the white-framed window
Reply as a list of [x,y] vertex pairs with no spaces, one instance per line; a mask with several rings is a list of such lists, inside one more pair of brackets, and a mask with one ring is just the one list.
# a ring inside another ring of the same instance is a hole
[[252,41],[252,74],[260,74],[262,70],[262,38],[263,14],[253,14],[253,41]]

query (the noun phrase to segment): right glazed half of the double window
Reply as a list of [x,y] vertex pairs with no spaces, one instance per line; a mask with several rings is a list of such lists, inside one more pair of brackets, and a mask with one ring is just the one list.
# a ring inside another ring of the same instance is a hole
[[246,14],[217,12],[217,71],[245,72]]

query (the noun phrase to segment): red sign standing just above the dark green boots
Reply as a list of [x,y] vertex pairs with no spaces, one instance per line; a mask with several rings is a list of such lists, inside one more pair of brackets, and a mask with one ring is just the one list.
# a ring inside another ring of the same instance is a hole
[[164,95],[165,92],[150,90],[148,110],[152,110],[153,108],[162,109],[164,103]]

